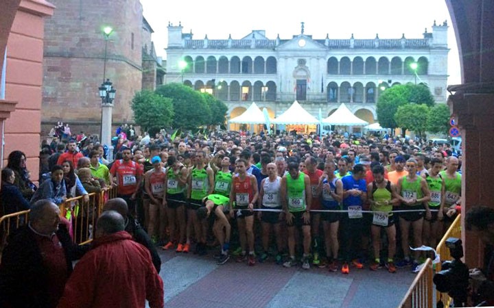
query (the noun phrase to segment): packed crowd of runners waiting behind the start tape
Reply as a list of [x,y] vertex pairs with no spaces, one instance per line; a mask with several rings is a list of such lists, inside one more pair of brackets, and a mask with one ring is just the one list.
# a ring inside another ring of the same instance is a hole
[[232,256],[343,274],[416,271],[427,255],[410,246],[435,247],[459,210],[461,155],[447,143],[229,131],[145,138],[119,142],[113,163],[101,146],[85,149],[84,164],[117,186],[156,245],[217,264]]

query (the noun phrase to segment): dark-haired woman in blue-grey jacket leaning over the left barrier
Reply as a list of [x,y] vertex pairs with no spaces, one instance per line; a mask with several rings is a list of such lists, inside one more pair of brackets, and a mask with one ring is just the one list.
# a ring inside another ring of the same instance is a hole
[[50,179],[41,183],[31,198],[31,204],[41,199],[47,199],[56,205],[67,200],[67,188],[65,188],[62,166],[55,165],[54,168],[51,168]]

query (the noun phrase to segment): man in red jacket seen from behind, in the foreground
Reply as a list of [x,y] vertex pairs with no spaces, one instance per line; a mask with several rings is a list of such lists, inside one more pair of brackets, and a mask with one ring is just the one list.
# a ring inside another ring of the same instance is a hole
[[93,249],[75,266],[58,308],[162,308],[163,281],[144,246],[124,231],[124,218],[105,211],[96,224]]

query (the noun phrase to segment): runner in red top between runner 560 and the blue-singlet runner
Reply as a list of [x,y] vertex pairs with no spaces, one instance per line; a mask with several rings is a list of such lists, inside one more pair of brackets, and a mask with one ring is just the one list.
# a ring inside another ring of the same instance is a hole
[[[311,209],[322,209],[320,202],[320,192],[318,192],[319,179],[322,177],[322,171],[317,169],[317,159],[316,157],[307,157],[305,159],[305,170],[303,171],[306,175],[309,176],[310,185],[311,185],[311,194],[312,194],[312,203]],[[319,227],[320,227],[320,213],[311,212],[311,231],[312,231],[312,255],[314,256],[312,259],[312,264],[319,265],[320,259],[319,254],[324,253],[324,246],[320,245],[319,239]]]

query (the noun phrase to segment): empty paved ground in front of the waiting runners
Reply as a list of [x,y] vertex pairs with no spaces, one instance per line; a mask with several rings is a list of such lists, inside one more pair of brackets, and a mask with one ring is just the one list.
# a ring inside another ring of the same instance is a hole
[[160,251],[165,307],[397,307],[415,274],[410,268],[390,274],[350,268],[350,274],[326,268],[283,268],[273,261],[253,266],[217,266],[209,255]]

